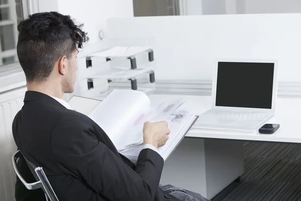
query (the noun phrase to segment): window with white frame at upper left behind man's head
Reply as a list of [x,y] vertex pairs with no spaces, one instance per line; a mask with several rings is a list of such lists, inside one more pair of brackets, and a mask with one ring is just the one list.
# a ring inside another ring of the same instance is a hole
[[24,18],[22,0],[0,0],[0,66],[18,62],[17,26]]

